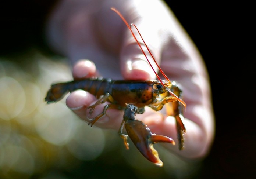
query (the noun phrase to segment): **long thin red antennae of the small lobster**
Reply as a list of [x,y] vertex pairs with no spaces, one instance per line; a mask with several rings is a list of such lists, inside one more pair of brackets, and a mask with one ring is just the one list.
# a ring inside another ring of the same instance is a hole
[[[144,39],[142,38],[141,33],[139,32],[139,30],[138,30],[138,28],[136,27],[136,25],[134,25],[134,24],[132,23],[131,26],[129,26],[128,22],[125,20],[125,18],[122,16],[122,14],[121,14],[118,10],[116,10],[116,9],[113,8],[113,7],[111,8],[111,10],[115,11],[115,12],[121,17],[121,19],[124,21],[125,25],[126,25],[126,26],[128,27],[128,29],[131,31],[132,36],[134,37],[136,43],[139,45],[139,48],[141,49],[143,55],[146,57],[147,61],[149,62],[149,65],[150,65],[151,68],[153,69],[153,71],[154,71],[154,73],[156,74],[157,78],[159,79],[160,83],[165,87],[163,81],[162,81],[161,78],[158,76],[158,74],[157,74],[156,71],[154,70],[153,66],[151,65],[149,59],[147,58],[147,55],[146,55],[146,53],[144,52],[143,48],[141,47],[141,44],[139,43],[138,39],[135,37],[135,35],[134,35],[133,31],[132,31],[132,28],[131,28],[132,26],[134,26],[134,27],[136,28],[137,32],[139,33],[139,36],[141,37],[141,39],[142,39],[142,41],[143,41],[143,43],[144,43],[144,45],[145,45],[145,47],[147,48],[147,51],[149,52],[149,54],[150,54],[150,56],[152,57],[153,61],[156,63],[156,65],[157,65],[159,71],[161,72],[161,74],[163,74],[164,78],[166,78],[166,80],[167,80],[169,83],[171,83],[171,81],[169,80],[169,78],[166,76],[166,74],[164,74],[163,70],[161,70],[160,66],[159,66],[158,63],[156,62],[156,59],[154,58],[154,56],[152,55],[151,51],[150,51],[149,48],[147,47],[147,44],[145,43]],[[185,109],[186,109],[186,103],[185,103],[181,98],[179,98],[177,95],[175,95],[169,88],[166,88],[166,89],[167,89],[167,91],[168,91],[171,95],[173,95],[175,98],[177,98],[178,101],[181,102],[182,105],[183,105],[183,106],[185,107]]]

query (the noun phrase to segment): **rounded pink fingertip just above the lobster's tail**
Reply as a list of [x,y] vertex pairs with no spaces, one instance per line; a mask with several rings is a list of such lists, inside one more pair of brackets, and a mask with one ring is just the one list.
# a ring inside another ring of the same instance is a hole
[[75,63],[72,75],[75,80],[91,77],[99,77],[95,64],[87,59],[81,59]]

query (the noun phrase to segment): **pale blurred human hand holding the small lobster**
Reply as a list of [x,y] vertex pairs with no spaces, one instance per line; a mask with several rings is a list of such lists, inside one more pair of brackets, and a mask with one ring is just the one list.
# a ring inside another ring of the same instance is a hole
[[[163,146],[184,158],[205,157],[215,131],[209,77],[198,49],[163,1],[62,0],[49,17],[50,45],[71,60],[74,79],[98,76],[114,80],[156,79],[131,32],[111,7],[138,27],[164,73],[182,85],[182,99],[186,103],[185,149],[179,151],[178,145],[168,143]],[[106,105],[97,106],[90,116],[87,107],[96,101],[89,92],[77,90],[68,96],[66,104],[88,122]],[[118,131],[123,114],[109,109],[94,125]],[[164,115],[164,111],[146,107],[145,113],[136,118],[147,124],[152,133],[178,142],[175,120]]]

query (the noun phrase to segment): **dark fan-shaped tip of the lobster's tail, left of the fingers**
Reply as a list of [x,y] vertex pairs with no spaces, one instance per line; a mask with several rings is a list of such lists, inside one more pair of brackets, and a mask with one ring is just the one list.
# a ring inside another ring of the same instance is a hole
[[45,97],[47,104],[60,101],[64,98],[64,95],[70,91],[69,86],[70,83],[57,83],[51,85],[51,88],[48,90]]

